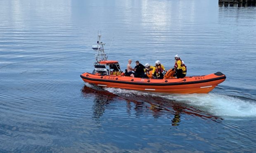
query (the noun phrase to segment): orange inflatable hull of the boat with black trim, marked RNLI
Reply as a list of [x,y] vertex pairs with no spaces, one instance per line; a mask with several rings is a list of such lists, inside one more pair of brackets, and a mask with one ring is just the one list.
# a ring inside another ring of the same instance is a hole
[[182,79],[147,79],[130,76],[100,76],[81,74],[83,81],[96,86],[142,90],[159,93],[209,93],[226,76],[221,72],[203,76],[188,76]]

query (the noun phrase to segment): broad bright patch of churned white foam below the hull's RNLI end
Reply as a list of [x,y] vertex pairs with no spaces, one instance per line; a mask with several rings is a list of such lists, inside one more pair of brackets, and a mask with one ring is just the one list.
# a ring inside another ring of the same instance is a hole
[[216,116],[230,117],[254,117],[256,116],[256,103],[253,100],[242,100],[229,95],[188,94],[165,96],[170,100],[186,102],[199,107]]

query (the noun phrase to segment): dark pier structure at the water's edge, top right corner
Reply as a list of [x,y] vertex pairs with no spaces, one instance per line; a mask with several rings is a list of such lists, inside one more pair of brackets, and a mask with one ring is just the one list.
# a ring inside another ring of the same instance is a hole
[[253,7],[256,0],[219,0],[219,7]]

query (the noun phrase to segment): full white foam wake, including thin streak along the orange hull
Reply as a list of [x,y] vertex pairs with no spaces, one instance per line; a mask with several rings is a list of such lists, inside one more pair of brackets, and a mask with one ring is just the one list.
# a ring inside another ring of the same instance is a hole
[[202,111],[221,117],[255,117],[256,101],[242,99],[229,95],[209,94],[161,94],[146,93],[136,90],[125,90],[120,88],[104,88],[105,90],[117,95],[151,95],[160,96],[168,100],[182,102],[190,106],[197,107]]

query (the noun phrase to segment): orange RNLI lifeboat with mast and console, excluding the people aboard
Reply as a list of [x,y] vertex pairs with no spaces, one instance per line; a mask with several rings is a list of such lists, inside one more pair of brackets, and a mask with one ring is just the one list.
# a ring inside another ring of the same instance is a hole
[[152,79],[152,71],[147,74],[149,78],[125,76],[118,61],[107,60],[101,35],[98,35],[96,61],[92,73],[83,73],[80,76],[85,82],[103,87],[160,93],[209,93],[226,79],[226,76],[221,72],[176,79],[173,77],[174,70],[168,70],[164,79]]

